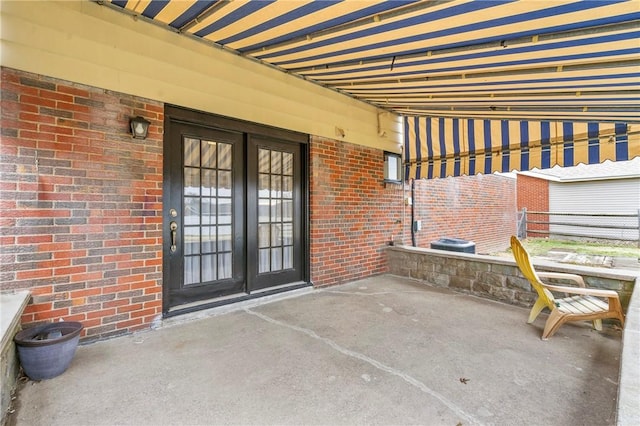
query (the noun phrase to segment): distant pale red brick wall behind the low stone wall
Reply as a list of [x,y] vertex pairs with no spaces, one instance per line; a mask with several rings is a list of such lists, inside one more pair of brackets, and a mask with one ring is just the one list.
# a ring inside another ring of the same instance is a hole
[[[476,253],[504,250],[516,232],[515,190],[515,179],[501,175],[416,181],[415,219],[422,221],[416,245],[429,248],[431,241],[451,237],[475,242]],[[410,207],[405,210],[410,218]],[[410,232],[408,225],[406,232]],[[405,241],[410,244],[407,235]]]

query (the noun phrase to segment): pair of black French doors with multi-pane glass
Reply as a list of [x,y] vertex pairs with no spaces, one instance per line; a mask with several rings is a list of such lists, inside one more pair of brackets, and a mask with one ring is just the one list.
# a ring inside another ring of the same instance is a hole
[[165,313],[308,281],[305,145],[168,115]]

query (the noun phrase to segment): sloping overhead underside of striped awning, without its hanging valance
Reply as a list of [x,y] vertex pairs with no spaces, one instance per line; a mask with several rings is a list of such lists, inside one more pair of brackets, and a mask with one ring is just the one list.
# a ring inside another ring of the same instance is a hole
[[401,115],[640,122],[636,1],[104,4]]

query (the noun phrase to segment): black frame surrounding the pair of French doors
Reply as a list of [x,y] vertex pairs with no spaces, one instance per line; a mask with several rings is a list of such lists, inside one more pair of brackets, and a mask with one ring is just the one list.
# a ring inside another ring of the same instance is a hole
[[[242,300],[252,299],[255,297],[262,297],[268,294],[279,293],[282,291],[289,291],[296,288],[311,285],[310,281],[310,219],[309,219],[309,135],[290,130],[285,130],[277,127],[271,127],[252,123],[248,121],[238,120],[234,118],[224,117],[220,115],[210,114],[201,111],[195,111],[185,109],[174,105],[165,105],[164,111],[164,141],[163,141],[163,194],[172,193],[171,191],[181,191],[181,188],[177,188],[178,182],[175,180],[171,182],[168,176],[171,176],[171,161],[169,159],[171,149],[171,128],[172,124],[187,124],[191,126],[205,127],[215,130],[239,132],[245,135],[244,138],[244,156],[246,157],[246,150],[248,139],[251,136],[258,136],[267,139],[275,139],[283,142],[299,144],[301,150],[301,170],[302,170],[302,246],[304,247],[305,254],[303,256],[303,277],[304,280],[301,283],[292,284],[291,286],[284,286],[283,288],[276,287],[274,289],[260,290],[250,294],[239,294],[237,297],[229,297],[222,300],[212,300],[210,302],[204,302],[201,304],[187,305],[185,308],[171,307],[169,300],[170,283],[169,283],[169,241],[171,238],[169,223],[172,218],[169,215],[170,206],[166,203],[166,199],[163,202],[162,207],[162,266],[163,266],[163,297],[162,297],[162,311],[164,317],[170,317],[179,315],[191,311],[208,309],[211,307],[225,305],[230,303],[236,303]],[[244,161],[244,160],[243,160]],[[246,173],[246,168],[245,168]],[[246,191],[246,187],[245,187]],[[247,199],[246,192],[244,193],[245,200]],[[245,215],[246,217],[246,215]],[[247,229],[247,224],[244,224],[244,228]],[[247,240],[250,238],[247,237]],[[244,253],[245,260],[247,259],[247,252]],[[245,266],[246,269],[246,266]],[[245,271],[246,272],[246,271]],[[245,279],[246,273],[245,273]],[[171,309],[171,310],[170,310]]]

